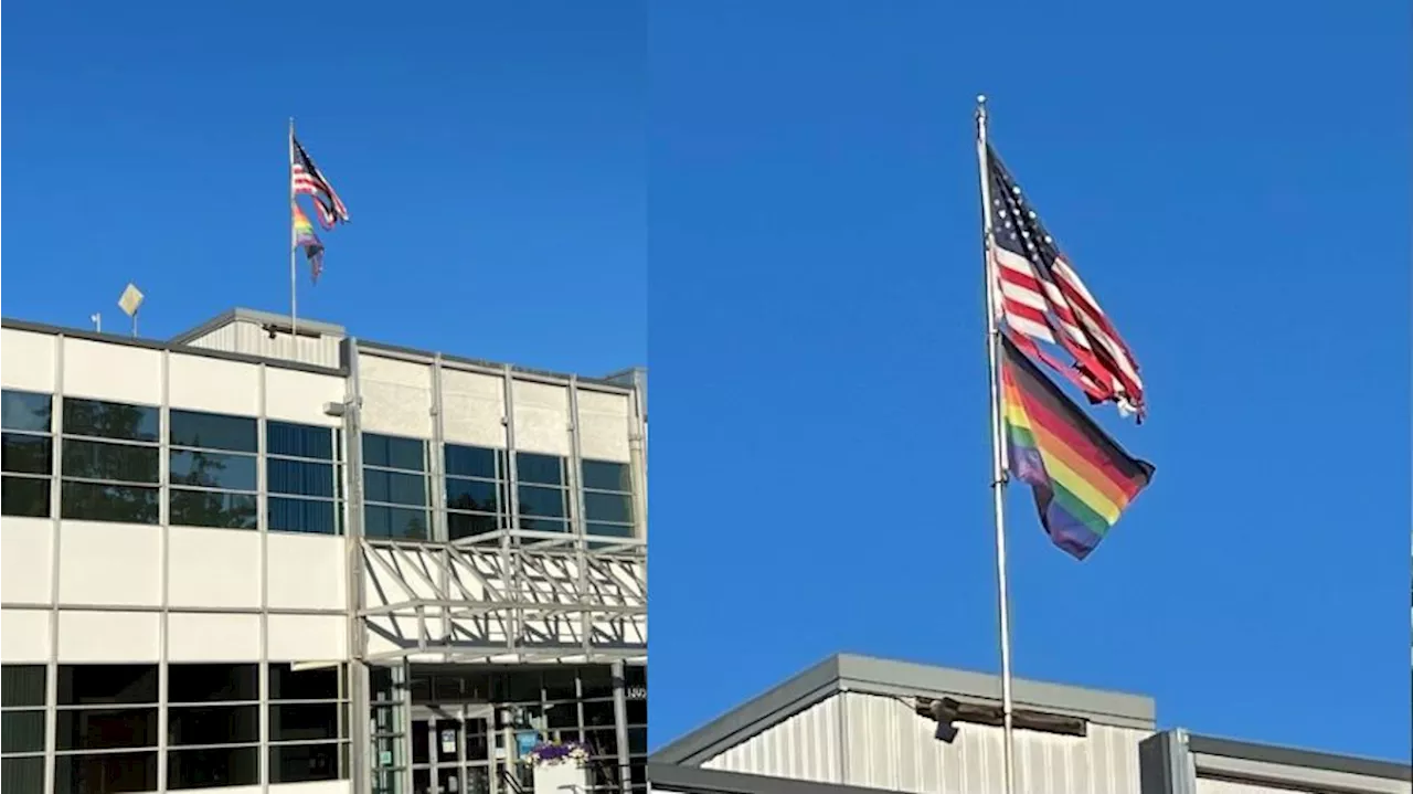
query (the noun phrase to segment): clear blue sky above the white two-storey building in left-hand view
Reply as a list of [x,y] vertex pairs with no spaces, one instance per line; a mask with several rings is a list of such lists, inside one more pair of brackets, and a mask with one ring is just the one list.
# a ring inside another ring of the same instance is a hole
[[[642,1],[23,3],[0,25],[0,315],[288,312],[288,154],[353,223],[300,314],[588,374],[646,342]],[[305,199],[307,201],[307,199]]]

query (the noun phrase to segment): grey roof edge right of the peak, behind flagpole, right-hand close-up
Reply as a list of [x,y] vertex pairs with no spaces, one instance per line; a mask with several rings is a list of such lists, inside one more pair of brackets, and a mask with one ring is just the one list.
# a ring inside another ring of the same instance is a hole
[[[842,654],[839,677],[852,691],[882,695],[954,694],[1000,699],[999,675],[911,661]],[[1015,701],[1017,706],[1068,713],[1101,725],[1147,730],[1157,726],[1157,705],[1146,695],[1016,678]]]

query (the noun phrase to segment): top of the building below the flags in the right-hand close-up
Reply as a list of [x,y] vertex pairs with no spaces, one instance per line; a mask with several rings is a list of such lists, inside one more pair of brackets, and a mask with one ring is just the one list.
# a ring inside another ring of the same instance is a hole
[[[1392,763],[1160,730],[1152,698],[1015,681],[1024,794],[1410,794]],[[653,754],[656,794],[1002,794],[1000,680],[835,656]]]

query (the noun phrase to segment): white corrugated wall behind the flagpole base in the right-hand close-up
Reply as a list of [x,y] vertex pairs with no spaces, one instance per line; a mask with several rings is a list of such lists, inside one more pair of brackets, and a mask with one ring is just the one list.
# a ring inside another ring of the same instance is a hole
[[[1002,794],[1002,730],[964,725],[948,745],[910,702],[846,692],[846,780],[853,786],[945,794]],[[1139,742],[1152,732],[1089,723],[1088,736],[1016,732],[1016,784],[1027,794],[1132,794]]]

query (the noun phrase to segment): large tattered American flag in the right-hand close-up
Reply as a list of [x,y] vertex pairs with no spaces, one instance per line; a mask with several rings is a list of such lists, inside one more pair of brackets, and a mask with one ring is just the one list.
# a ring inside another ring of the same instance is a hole
[[[1113,329],[1070,261],[988,147],[991,267],[999,285],[992,307],[1022,350],[1060,370],[1094,403],[1112,401],[1143,418],[1143,381],[1129,346]],[[1037,342],[1063,348],[1065,366]]]

